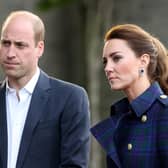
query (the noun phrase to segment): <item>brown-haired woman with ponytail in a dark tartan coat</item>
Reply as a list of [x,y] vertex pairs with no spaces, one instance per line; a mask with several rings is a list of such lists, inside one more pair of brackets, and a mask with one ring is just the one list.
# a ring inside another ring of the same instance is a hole
[[141,27],[117,25],[105,35],[103,64],[112,90],[126,98],[91,132],[108,168],[168,168],[168,56]]

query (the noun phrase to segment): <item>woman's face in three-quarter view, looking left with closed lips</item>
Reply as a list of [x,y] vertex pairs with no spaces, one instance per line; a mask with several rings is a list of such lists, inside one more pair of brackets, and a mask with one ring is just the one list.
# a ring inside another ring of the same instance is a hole
[[108,40],[103,49],[106,77],[113,90],[127,90],[139,81],[142,61],[122,39]]

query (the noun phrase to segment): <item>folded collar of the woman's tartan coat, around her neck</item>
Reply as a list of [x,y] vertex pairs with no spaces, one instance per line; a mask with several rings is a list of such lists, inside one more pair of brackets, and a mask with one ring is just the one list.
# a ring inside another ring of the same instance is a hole
[[[145,92],[129,103],[127,98],[123,98],[111,107],[113,113],[124,113],[133,111],[138,117],[145,113],[156,99],[160,99],[163,94],[158,82],[154,82]],[[164,102],[163,102],[164,103]]]

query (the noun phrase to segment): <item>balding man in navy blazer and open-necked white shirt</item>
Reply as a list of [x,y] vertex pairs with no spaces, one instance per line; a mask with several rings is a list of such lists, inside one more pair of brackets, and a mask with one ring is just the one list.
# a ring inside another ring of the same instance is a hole
[[0,167],[86,168],[87,94],[39,69],[44,33],[42,20],[28,11],[12,12],[2,26]]

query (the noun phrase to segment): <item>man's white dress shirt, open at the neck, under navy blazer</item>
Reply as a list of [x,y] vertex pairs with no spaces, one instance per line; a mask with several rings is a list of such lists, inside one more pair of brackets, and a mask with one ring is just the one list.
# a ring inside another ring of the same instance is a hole
[[33,90],[39,78],[40,70],[37,69],[32,79],[19,90],[6,85],[6,107],[7,107],[7,130],[8,130],[8,162],[7,168],[15,168],[21,137],[25,125]]

